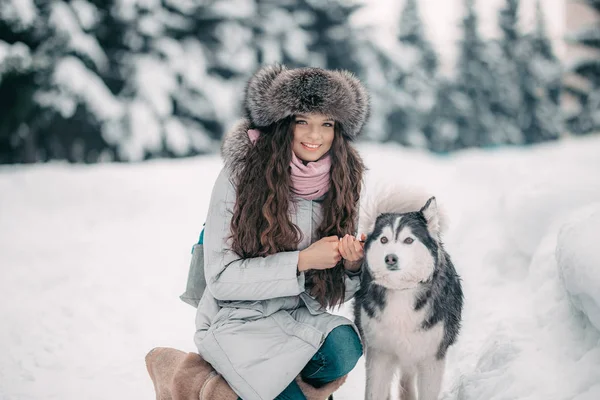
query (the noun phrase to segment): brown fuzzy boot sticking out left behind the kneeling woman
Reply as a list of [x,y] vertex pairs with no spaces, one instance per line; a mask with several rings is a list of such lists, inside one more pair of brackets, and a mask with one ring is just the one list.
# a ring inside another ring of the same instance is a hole
[[146,355],[156,400],[237,400],[238,396],[196,353],[157,347]]

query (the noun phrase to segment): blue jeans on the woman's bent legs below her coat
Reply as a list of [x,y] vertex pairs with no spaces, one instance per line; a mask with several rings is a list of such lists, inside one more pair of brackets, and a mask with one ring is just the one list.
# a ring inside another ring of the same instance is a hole
[[[326,383],[346,375],[362,356],[362,344],[350,325],[334,328],[325,338],[323,345],[300,372],[302,379],[314,386]],[[306,400],[300,387],[293,381],[275,400]]]

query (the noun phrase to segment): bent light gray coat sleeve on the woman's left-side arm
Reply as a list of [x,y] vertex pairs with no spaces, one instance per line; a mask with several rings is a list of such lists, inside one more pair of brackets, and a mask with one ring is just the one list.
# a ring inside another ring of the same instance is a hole
[[295,296],[304,291],[298,274],[299,251],[242,259],[231,250],[231,218],[235,188],[221,170],[210,199],[204,228],[206,284],[217,300],[266,300]]

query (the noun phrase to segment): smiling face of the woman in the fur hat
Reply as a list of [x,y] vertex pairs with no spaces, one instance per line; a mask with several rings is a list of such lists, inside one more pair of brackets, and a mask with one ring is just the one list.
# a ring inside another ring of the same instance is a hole
[[302,161],[317,161],[333,143],[334,121],[321,114],[298,114],[293,122],[292,151]]

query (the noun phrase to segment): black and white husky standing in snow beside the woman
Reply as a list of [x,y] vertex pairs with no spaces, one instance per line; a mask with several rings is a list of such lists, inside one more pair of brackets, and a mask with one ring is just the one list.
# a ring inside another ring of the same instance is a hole
[[406,212],[407,204],[392,197],[367,223],[354,303],[365,343],[367,400],[389,399],[398,369],[402,400],[437,399],[446,351],[460,329],[460,278],[440,240],[436,200],[424,203]]

